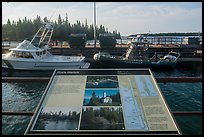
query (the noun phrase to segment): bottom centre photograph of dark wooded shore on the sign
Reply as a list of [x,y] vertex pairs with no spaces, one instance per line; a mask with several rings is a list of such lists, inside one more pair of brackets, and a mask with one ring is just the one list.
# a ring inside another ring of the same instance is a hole
[[124,130],[121,107],[83,107],[81,130]]

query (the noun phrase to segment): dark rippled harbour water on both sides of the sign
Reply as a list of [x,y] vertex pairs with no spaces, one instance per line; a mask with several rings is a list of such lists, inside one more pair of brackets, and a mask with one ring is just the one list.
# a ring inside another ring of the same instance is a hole
[[[202,66],[186,65],[172,71],[152,70],[155,77],[202,77]],[[2,71],[3,76],[51,76],[52,71]],[[202,83],[158,83],[172,111],[202,111]],[[34,111],[45,83],[2,83],[2,111]],[[24,134],[31,116],[2,116],[2,134]],[[202,116],[175,116],[183,134],[202,134]]]

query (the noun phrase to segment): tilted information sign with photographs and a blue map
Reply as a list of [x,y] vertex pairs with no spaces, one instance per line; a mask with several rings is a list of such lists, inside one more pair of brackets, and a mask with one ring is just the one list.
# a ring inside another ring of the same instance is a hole
[[150,69],[55,70],[25,134],[180,134]]

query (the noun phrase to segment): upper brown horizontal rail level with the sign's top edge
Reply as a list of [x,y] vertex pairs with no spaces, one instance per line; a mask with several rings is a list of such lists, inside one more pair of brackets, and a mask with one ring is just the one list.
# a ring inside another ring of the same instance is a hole
[[[156,77],[158,83],[167,83],[167,82],[202,82],[202,77]],[[50,77],[2,77],[2,83],[4,82],[49,82]]]

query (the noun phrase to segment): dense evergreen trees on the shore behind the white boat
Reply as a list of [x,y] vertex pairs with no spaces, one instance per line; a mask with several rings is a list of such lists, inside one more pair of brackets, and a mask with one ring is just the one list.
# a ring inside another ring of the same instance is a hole
[[[42,20],[40,16],[37,16],[33,21],[26,17],[23,20],[19,19],[17,22],[14,20],[11,22],[8,19],[7,24],[2,24],[2,40],[31,39],[43,22],[46,21],[48,21],[47,17]],[[71,33],[85,33],[87,40],[94,39],[94,25],[88,25],[87,20],[85,23],[77,20],[76,23],[71,24],[67,14],[65,20],[59,14],[58,20],[54,22],[54,25],[52,40],[67,41]],[[100,33],[113,34],[116,38],[120,38],[120,32],[117,32],[117,30],[109,32],[103,25],[96,26],[96,36],[98,37]]]

